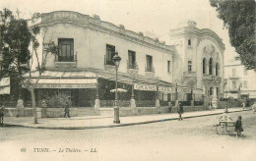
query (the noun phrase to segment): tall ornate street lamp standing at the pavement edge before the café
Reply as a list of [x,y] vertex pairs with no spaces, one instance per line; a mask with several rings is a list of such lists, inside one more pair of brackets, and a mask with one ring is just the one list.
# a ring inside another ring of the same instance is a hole
[[115,65],[115,100],[114,100],[114,124],[120,124],[119,120],[119,107],[117,106],[117,71],[121,61],[121,57],[118,56],[118,52],[115,52],[115,55],[112,58]]

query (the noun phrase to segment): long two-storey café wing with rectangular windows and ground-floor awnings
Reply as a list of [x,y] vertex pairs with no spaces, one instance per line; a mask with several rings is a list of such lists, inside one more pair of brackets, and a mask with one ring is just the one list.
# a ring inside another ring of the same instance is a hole
[[[64,92],[75,107],[112,106],[115,88],[115,66],[112,57],[118,52],[118,88],[121,106],[156,106],[169,95],[162,94],[172,85],[173,47],[158,39],[146,37],[123,26],[102,22],[76,12],[59,11],[42,14],[41,30],[44,42],[54,41],[58,55],[47,55],[45,73],[35,84],[37,101]],[[42,49],[42,54],[44,50]],[[36,79],[36,73],[33,79]],[[172,92],[175,90],[172,87]],[[170,99],[170,98],[169,98]]]

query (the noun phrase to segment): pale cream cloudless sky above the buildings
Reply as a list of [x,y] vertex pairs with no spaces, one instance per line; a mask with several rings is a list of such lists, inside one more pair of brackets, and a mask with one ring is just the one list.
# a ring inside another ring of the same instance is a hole
[[[168,42],[169,29],[192,20],[198,28],[210,28],[225,44],[224,64],[236,54],[230,46],[223,21],[217,18],[209,0],[0,0],[0,10],[19,10],[20,17],[29,19],[32,13],[76,11],[100,17],[101,21],[123,25],[135,32],[154,32],[160,41]],[[155,37],[153,37],[155,38]]]

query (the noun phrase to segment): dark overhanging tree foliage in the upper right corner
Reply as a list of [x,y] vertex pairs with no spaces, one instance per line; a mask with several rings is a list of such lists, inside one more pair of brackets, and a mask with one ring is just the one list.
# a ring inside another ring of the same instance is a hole
[[235,48],[247,70],[256,70],[255,55],[255,1],[254,0],[210,0],[218,17],[228,29],[230,44]]

